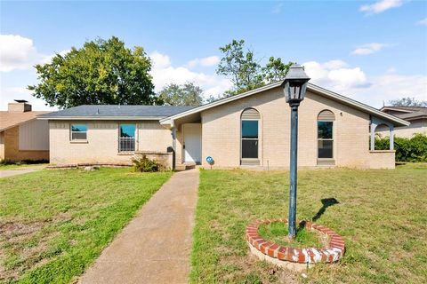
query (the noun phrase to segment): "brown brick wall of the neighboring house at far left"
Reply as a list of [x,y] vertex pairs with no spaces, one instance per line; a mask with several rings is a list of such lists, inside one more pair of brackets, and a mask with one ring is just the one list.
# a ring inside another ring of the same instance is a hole
[[20,126],[3,131],[3,154],[0,159],[18,162],[22,160],[40,161],[49,160],[49,151],[20,150]]

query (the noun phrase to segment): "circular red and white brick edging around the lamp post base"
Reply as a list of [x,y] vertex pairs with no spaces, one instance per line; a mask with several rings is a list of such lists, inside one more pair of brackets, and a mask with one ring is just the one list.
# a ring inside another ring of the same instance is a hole
[[267,241],[258,233],[258,226],[273,222],[287,223],[287,219],[257,220],[246,227],[246,241],[248,244],[266,256],[293,263],[313,264],[333,263],[339,260],[344,254],[344,241],[339,234],[323,225],[317,225],[311,222],[306,222],[306,229],[316,230],[326,234],[330,238],[326,248],[288,248]]

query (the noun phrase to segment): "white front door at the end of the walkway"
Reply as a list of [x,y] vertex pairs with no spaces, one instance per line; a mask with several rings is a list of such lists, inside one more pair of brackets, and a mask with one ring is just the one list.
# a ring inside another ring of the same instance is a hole
[[184,162],[202,161],[202,124],[182,125],[184,134]]

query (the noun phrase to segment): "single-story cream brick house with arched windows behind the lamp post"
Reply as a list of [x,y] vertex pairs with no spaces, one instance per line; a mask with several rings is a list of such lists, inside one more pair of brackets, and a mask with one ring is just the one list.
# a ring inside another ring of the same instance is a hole
[[[289,165],[290,107],[280,82],[204,106],[77,106],[39,118],[49,121],[57,164],[130,162],[145,153],[176,167],[209,167],[207,156],[219,168]],[[298,166],[394,168],[392,149],[369,149],[371,122],[409,124],[309,83],[299,107]]]

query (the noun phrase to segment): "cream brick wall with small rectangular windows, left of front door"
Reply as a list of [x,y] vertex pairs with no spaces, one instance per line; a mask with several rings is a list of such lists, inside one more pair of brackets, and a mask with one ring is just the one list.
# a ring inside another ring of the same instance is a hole
[[[85,143],[70,141],[69,128],[72,123],[87,125]],[[53,164],[71,163],[121,163],[131,162],[133,154],[118,153],[118,121],[50,121],[50,159]],[[165,153],[172,146],[171,131],[159,122],[137,122],[137,152]],[[167,158],[169,159],[169,158]]]

